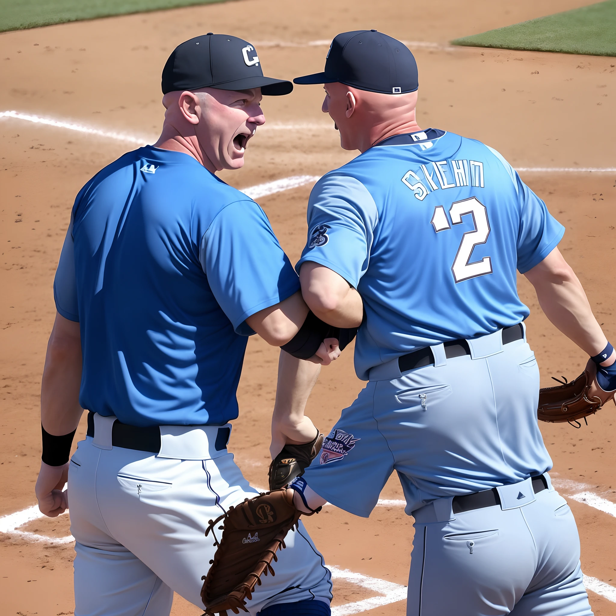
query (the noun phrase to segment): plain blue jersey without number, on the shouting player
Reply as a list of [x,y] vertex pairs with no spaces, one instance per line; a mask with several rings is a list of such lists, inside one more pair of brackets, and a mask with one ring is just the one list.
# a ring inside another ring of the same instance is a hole
[[129,152],[79,192],[54,282],[79,403],[134,426],[236,418],[245,320],[298,290],[254,201],[184,153]]

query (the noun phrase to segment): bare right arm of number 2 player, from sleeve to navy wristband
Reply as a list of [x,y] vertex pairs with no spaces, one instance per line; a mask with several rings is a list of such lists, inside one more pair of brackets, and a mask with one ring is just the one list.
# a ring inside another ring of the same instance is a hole
[[605,348],[607,338],[586,293],[557,248],[525,275],[535,287],[546,317],[567,338],[588,355],[596,355]]

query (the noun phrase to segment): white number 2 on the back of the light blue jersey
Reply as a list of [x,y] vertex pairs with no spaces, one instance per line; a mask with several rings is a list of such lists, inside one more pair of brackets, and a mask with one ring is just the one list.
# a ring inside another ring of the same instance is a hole
[[[462,222],[464,214],[471,214],[475,229],[467,231],[462,236],[458,253],[452,264],[453,279],[457,282],[492,274],[492,259],[484,257],[481,261],[469,263],[471,260],[472,249],[479,244],[485,244],[490,235],[490,222],[488,222],[488,213],[485,205],[477,200],[476,197],[464,199],[463,201],[455,201],[449,208],[449,216],[452,223],[459,225]],[[436,233],[451,229],[445,208],[442,205],[434,208],[432,220],[430,221]]]

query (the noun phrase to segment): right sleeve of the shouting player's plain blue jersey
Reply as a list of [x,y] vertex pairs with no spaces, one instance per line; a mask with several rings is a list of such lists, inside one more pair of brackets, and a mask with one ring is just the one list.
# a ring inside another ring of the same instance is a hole
[[236,333],[254,334],[246,318],[299,290],[299,278],[265,212],[251,200],[225,206],[203,235],[199,260]]

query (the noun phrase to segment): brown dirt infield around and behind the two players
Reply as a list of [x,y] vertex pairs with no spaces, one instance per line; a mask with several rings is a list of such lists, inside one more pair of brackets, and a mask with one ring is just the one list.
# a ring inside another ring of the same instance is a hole
[[[378,28],[407,41],[416,55],[422,128],[480,139],[518,168],[614,168],[614,58],[447,44],[456,36],[585,4],[591,2],[383,0],[377,5],[314,0],[291,6],[282,0],[240,0],[4,33],[0,111],[49,116],[153,140],[163,117],[161,68],[174,46],[191,36],[214,31],[246,38],[256,44],[267,74],[291,78],[322,70],[327,45],[339,31]],[[320,113],[321,99],[319,86],[304,86],[288,97],[265,100],[269,124],[251,141],[245,168],[225,172],[223,179],[249,187],[294,175],[319,176],[349,160],[351,153],[339,148],[331,121]],[[134,145],[11,118],[0,120],[0,136],[3,516],[35,502],[39,389],[55,314],[52,279],[73,199],[89,177]],[[561,249],[614,340],[616,172],[527,171],[522,177],[566,225]],[[305,186],[259,199],[291,261],[304,245],[309,190]],[[532,310],[528,336],[542,383],[548,384],[552,375],[577,375],[585,363],[582,352],[546,321],[525,279],[520,292]],[[257,336],[251,338],[230,449],[257,486],[267,482],[276,365],[275,349]],[[347,352],[323,370],[308,414],[322,431],[328,430],[361,387]],[[616,503],[614,411],[607,406],[580,430],[566,424],[541,426],[554,460],[552,475],[565,496],[591,492],[608,505]],[[389,481],[381,498],[402,498],[396,479]],[[616,587],[616,519],[578,500],[569,502],[580,529],[583,570]],[[67,517],[34,520],[21,530],[66,536]],[[378,506],[368,520],[330,507],[306,522],[329,564],[397,585],[407,582],[411,523],[402,507],[391,502]],[[0,549],[4,614],[72,614],[71,543],[0,533]],[[336,578],[334,590],[334,606],[378,595],[344,577]],[[606,598],[609,590],[602,596],[589,594],[596,614],[616,615],[616,588],[614,601]],[[201,614],[198,607],[176,599],[175,616]],[[404,610],[404,601],[397,601],[371,611],[390,616]]]

